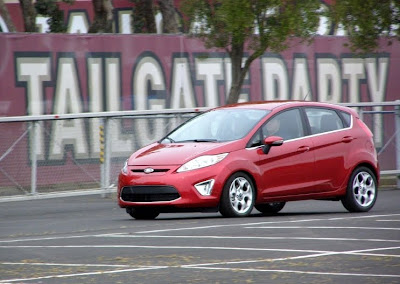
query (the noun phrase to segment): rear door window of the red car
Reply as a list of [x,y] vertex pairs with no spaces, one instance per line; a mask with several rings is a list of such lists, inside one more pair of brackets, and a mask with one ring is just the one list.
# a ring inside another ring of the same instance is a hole
[[345,127],[342,119],[334,110],[306,108],[305,111],[310,123],[311,134],[334,131]]

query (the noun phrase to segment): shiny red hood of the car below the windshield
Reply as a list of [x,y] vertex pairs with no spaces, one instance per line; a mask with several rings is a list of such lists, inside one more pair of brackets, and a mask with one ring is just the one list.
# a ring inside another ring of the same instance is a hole
[[[236,143],[237,144],[237,143]],[[235,143],[154,143],[133,153],[130,166],[182,165],[207,154],[221,154],[234,150]]]

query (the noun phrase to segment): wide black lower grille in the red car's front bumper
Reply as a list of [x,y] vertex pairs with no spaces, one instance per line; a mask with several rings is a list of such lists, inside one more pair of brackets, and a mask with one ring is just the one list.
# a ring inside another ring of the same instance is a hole
[[131,202],[171,201],[179,197],[172,186],[125,186],[121,191],[121,199]]

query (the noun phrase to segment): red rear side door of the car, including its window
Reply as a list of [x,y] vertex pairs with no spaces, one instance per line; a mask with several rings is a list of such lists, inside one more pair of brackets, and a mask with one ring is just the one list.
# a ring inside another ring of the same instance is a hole
[[315,147],[317,191],[335,191],[346,179],[346,157],[352,149],[351,115],[329,108],[307,107],[305,114]]

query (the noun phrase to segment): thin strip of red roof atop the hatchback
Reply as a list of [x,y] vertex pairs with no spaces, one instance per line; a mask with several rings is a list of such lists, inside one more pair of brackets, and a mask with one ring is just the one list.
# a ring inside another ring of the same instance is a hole
[[296,107],[296,106],[309,106],[309,107],[331,107],[344,111],[351,111],[349,108],[344,106],[339,106],[331,103],[321,103],[321,102],[311,102],[311,101],[259,101],[259,102],[244,102],[236,103],[226,106],[221,106],[221,108],[241,108],[241,109],[284,109],[286,107]]

